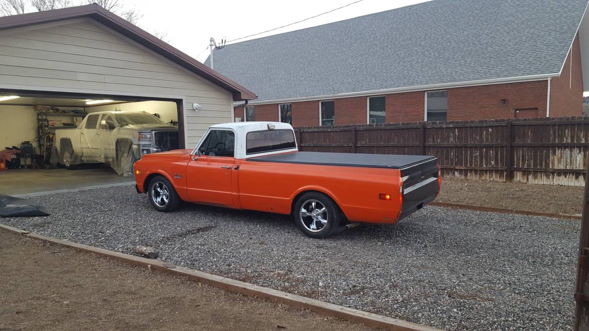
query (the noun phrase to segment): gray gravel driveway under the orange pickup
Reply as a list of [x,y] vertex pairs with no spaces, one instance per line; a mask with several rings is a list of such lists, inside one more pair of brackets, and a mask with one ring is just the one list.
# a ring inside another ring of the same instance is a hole
[[52,215],[0,221],[443,329],[572,329],[578,221],[426,207],[313,240],[287,216],[158,213],[127,186],[35,200]]

